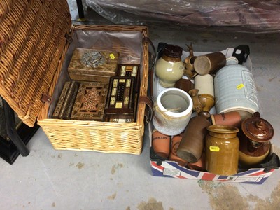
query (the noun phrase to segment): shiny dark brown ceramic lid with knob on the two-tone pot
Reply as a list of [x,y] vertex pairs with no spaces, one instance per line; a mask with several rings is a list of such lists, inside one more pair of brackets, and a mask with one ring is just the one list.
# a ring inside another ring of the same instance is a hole
[[242,130],[246,137],[257,142],[269,141],[274,135],[272,125],[260,118],[260,113],[255,113],[253,117],[244,120]]

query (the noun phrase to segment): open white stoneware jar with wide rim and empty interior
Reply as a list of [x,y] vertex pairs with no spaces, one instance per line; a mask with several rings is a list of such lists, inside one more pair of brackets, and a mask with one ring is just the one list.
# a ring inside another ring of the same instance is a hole
[[162,90],[153,106],[153,125],[155,129],[169,136],[185,130],[193,112],[193,100],[179,88]]

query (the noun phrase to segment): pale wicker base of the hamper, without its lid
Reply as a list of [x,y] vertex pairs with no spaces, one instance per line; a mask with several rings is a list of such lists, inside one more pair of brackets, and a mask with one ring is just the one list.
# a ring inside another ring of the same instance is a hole
[[[99,31],[140,31],[143,37],[148,37],[148,29],[142,26],[122,25],[75,25],[76,30]],[[148,90],[148,43],[143,43],[141,65],[143,75],[141,79],[140,96],[146,96]],[[126,48],[113,45],[112,50],[127,53]],[[66,50],[62,55],[64,60]],[[62,62],[58,69],[62,68]],[[57,78],[54,79],[54,81]],[[49,94],[55,90],[55,83],[50,86]],[[145,104],[139,104],[137,122],[135,123],[107,123],[85,120],[59,120],[48,118],[49,104],[44,104],[38,116],[38,124],[57,150],[100,151],[104,153],[131,153],[139,155],[143,146]]]

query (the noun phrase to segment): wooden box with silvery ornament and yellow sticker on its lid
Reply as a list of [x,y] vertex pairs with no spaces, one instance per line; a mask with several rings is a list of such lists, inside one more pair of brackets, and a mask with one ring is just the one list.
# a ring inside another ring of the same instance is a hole
[[120,53],[109,50],[76,48],[68,72],[71,80],[109,82],[116,76]]

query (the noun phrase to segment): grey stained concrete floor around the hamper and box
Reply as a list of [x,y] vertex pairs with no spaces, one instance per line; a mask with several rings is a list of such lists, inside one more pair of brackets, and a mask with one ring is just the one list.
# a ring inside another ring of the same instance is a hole
[[[73,20],[75,3],[70,2]],[[274,127],[280,155],[279,34],[235,34],[149,26],[163,41],[195,50],[251,48],[262,118]],[[280,209],[280,169],[262,185],[169,179],[151,175],[148,133],[141,155],[56,151],[41,129],[27,145],[30,154],[13,165],[0,160],[0,209]]]

